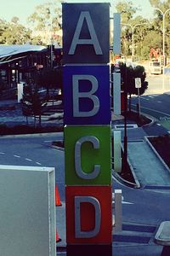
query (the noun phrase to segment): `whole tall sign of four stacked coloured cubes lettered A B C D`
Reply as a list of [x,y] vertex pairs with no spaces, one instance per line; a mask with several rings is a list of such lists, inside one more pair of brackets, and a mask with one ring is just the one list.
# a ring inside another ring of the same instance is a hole
[[111,245],[109,3],[63,3],[67,244]]

